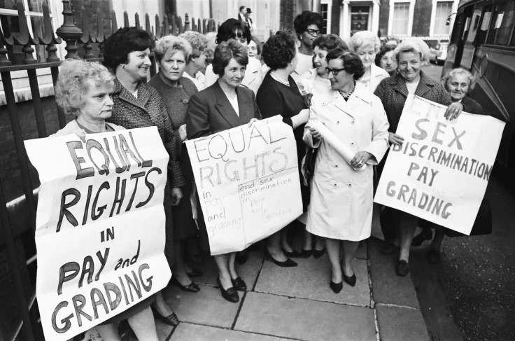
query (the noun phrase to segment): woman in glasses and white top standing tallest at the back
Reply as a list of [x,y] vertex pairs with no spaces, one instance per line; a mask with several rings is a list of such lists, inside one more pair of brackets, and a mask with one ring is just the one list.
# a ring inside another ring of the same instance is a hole
[[313,41],[322,34],[322,25],[322,15],[310,11],[302,12],[293,21],[295,33],[300,41],[297,68],[292,73],[295,82],[313,67]]

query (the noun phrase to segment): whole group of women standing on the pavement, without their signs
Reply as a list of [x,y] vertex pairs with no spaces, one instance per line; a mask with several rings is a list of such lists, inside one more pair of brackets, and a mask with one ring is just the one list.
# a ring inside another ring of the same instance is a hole
[[[301,172],[306,147],[318,150],[313,174],[301,184],[307,212],[302,252],[290,245],[289,230],[298,225],[292,223],[268,238],[265,253],[276,265],[292,267],[297,263],[291,258],[320,257],[327,249],[330,288],[338,293],[343,281],[356,284],[353,256],[372,225],[372,166],[379,165],[380,173],[388,146],[402,144],[395,130],[407,96],[414,93],[449,106],[449,119],[463,110],[482,113],[465,96],[474,86],[467,71],[453,71],[444,85],[425,76],[421,67],[429,50],[423,41],[406,39],[381,47],[372,32],[357,32],[347,44],[334,34],[320,34],[322,22],[320,14],[306,11],[295,18],[295,32],[277,32],[264,46],[234,19],[220,25],[216,37],[185,32],[157,42],[141,29],[123,28],[104,45],[105,67],[81,60],[63,63],[56,100],[76,117],[57,134],[157,127],[170,156],[164,253],[173,273],[171,284],[183,291],[200,290],[192,278],[202,272],[185,260],[190,245],[209,253],[186,139],[280,114],[297,141],[301,179],[306,175]],[[216,47],[210,50],[213,39]],[[160,71],[147,83],[152,51]],[[325,142],[321,127],[355,152],[352,160],[346,162]],[[405,276],[417,218],[388,207],[384,211],[392,217],[385,230],[388,246],[395,251],[395,240],[400,243],[395,271]],[[441,230],[432,244],[438,252]],[[238,291],[246,291],[247,284],[237,272],[236,253],[214,258],[221,295],[238,302]],[[120,340],[117,323],[128,319],[139,340],[157,340],[153,315],[172,326],[178,323],[157,293],[97,330],[104,340]]]

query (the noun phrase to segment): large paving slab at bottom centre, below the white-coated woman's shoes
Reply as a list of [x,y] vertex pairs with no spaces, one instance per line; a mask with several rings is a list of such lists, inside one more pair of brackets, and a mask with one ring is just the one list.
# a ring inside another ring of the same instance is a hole
[[370,308],[248,292],[235,330],[299,340],[376,340]]

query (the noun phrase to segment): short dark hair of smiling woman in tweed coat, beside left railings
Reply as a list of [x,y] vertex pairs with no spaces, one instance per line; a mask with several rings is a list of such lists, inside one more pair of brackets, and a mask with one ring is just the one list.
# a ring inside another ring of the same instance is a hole
[[154,48],[154,39],[143,29],[123,27],[113,33],[104,44],[104,66],[115,71],[118,65],[127,63],[129,53]]

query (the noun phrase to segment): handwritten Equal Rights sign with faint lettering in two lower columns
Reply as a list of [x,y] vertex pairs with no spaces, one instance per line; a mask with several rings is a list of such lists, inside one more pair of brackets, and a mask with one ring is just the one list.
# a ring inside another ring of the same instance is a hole
[[281,116],[186,146],[211,254],[246,249],[302,214],[295,138]]

